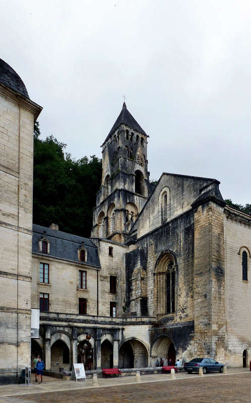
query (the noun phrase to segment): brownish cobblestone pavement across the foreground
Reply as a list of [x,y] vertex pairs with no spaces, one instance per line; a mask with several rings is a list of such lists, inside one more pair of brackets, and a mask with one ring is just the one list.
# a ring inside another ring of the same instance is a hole
[[[130,377],[132,378],[132,377]],[[144,378],[142,376],[142,378]],[[157,379],[157,378],[156,378]],[[64,382],[61,383],[63,386]],[[0,398],[2,403],[250,403],[251,373],[227,375],[208,374],[180,377],[174,380],[151,381],[112,386],[22,394]]]

